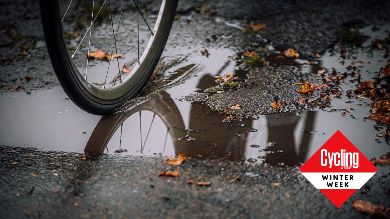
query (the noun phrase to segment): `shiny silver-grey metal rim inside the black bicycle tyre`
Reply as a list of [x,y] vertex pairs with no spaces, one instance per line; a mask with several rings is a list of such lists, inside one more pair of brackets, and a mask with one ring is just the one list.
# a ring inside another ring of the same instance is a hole
[[96,87],[82,76],[67,49],[67,43],[64,37],[63,29],[61,30],[62,43],[63,46],[65,46],[64,48],[66,48],[66,51],[63,51],[66,53],[64,54],[64,58],[66,59],[66,62],[69,64],[69,66],[72,66],[69,68],[69,71],[71,72],[78,86],[90,99],[98,102],[99,104],[114,104],[128,99],[131,94],[142,87],[143,83],[146,82],[145,79],[147,79],[150,73],[154,70],[154,67],[160,58],[160,50],[165,45],[165,41],[163,39],[167,34],[167,31],[169,32],[169,28],[167,28],[167,26],[170,26],[170,17],[174,16],[174,14],[172,14],[172,7],[175,6],[174,3],[175,1],[172,0],[162,0],[160,11],[152,30],[153,35],[149,38],[144,52],[139,57],[139,64],[136,64],[131,73],[122,79],[122,83],[118,83],[109,88]]

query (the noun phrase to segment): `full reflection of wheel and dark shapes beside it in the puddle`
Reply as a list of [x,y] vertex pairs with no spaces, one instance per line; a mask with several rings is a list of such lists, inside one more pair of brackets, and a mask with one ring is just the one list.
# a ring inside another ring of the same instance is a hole
[[[244,77],[245,72],[236,71],[235,75]],[[197,88],[204,90],[214,80],[210,74],[204,74]],[[229,161],[246,157],[248,162],[294,165],[307,157],[316,111],[300,113],[300,116],[284,113],[228,123],[204,105],[192,103],[186,129],[176,103],[162,91],[129,110],[101,117],[84,151],[103,153],[106,148],[126,149],[129,154],[183,153],[189,157]],[[295,133],[297,127],[305,131],[301,136]],[[300,137],[298,141],[296,136]]]

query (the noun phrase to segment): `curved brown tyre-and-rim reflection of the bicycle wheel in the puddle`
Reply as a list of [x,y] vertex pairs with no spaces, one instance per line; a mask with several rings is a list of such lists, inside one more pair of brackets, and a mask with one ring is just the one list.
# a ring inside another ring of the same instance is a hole
[[141,111],[151,111],[154,116],[160,117],[167,127],[167,132],[172,137],[173,144],[178,143],[177,139],[181,132],[177,132],[177,130],[184,129],[183,118],[170,95],[167,92],[161,92],[149,101],[143,102],[126,112],[101,117],[85,146],[84,152],[91,154],[103,153],[113,134],[121,127],[123,122],[131,115]]

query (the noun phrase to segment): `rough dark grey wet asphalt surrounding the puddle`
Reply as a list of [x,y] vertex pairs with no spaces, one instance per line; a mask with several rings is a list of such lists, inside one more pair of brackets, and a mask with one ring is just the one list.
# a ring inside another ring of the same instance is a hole
[[[2,1],[1,4],[1,91],[8,92],[6,88],[15,85],[23,85],[20,92],[27,93],[58,86],[43,42],[38,3]],[[276,49],[294,48],[302,58],[312,58],[315,53],[332,49],[339,39],[338,31],[343,28],[388,23],[390,16],[384,9],[389,4],[388,1],[179,0],[178,19],[167,47],[198,50],[228,47],[241,52],[256,48],[264,38]],[[148,7],[154,8],[151,4]],[[199,12],[200,9],[205,12]],[[216,18],[222,18],[223,22]],[[241,29],[234,28],[225,25],[225,21],[244,25]],[[266,23],[267,27],[248,34],[245,23]],[[28,40],[36,42],[35,47],[21,56],[17,46],[20,42],[9,43],[14,41],[10,30],[31,37]],[[288,67],[256,71],[269,75],[253,79],[267,80],[264,84],[271,87],[264,89],[268,90],[278,85],[275,83],[282,83],[275,80],[274,71],[284,72],[297,81],[301,79]],[[256,71],[250,74],[256,76]],[[31,79],[26,79],[27,75]],[[222,111],[225,106],[234,105],[232,99],[259,96],[259,90],[241,89],[207,99],[196,98],[207,101],[211,109]],[[269,104],[275,95],[290,92],[287,88],[280,89],[263,100]],[[228,98],[232,95],[234,98]],[[291,100],[298,97],[294,95]],[[242,113],[274,113],[269,107],[264,108],[264,102],[255,102],[246,108],[249,111]],[[351,207],[353,201],[390,206],[390,176],[382,167],[337,209],[303,178],[298,170],[300,165],[249,165],[192,158],[180,166],[169,166],[163,163],[163,157],[86,156],[7,146],[1,146],[0,150],[0,215],[4,218],[369,218]],[[167,170],[178,170],[180,177],[158,177],[158,173]],[[189,177],[211,182],[211,186],[187,184]]]

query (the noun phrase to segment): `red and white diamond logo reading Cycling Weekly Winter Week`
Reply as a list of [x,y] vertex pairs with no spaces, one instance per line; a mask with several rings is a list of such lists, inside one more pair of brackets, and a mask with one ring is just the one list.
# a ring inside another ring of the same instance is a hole
[[300,171],[337,208],[360,189],[377,168],[340,131],[308,159]]

